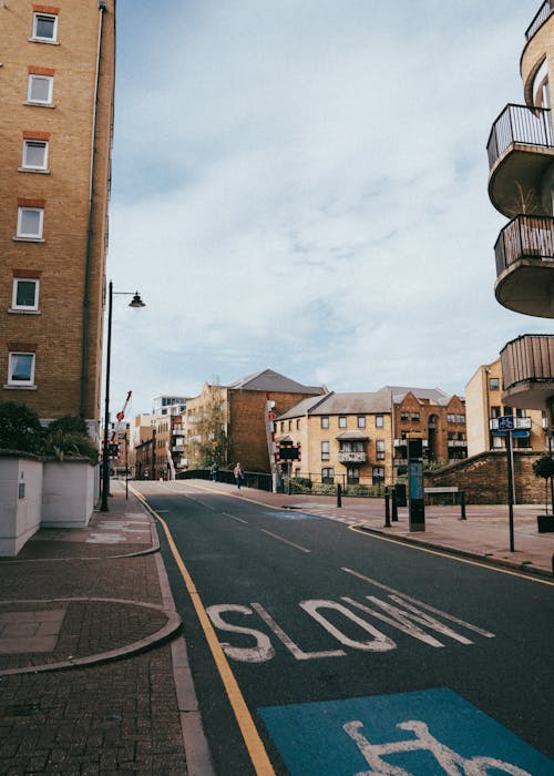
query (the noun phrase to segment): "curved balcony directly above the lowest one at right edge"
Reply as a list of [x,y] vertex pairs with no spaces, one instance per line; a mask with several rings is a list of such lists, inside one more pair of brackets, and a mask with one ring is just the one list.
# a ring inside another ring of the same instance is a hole
[[554,318],[554,218],[519,215],[494,246],[494,294],[507,309]]

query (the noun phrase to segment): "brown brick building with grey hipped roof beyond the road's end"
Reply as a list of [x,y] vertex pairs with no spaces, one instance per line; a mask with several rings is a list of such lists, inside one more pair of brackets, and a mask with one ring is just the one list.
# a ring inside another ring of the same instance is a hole
[[268,398],[276,415],[300,399],[322,396],[325,386],[304,386],[271,369],[249,375],[230,386],[206,382],[202,394],[188,399],[184,448],[188,468],[219,468],[240,461],[248,471],[269,471],[266,428]]

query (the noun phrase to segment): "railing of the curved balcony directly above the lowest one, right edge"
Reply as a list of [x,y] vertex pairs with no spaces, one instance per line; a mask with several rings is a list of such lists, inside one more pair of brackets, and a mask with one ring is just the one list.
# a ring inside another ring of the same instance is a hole
[[554,218],[517,215],[504,226],[494,245],[496,276],[521,258],[554,261]]

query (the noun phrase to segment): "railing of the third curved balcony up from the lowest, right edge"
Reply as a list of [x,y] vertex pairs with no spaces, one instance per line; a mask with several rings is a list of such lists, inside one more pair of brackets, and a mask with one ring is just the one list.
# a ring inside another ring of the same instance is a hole
[[554,147],[551,110],[548,108],[527,108],[526,105],[506,105],[492,125],[486,143],[489,169],[512,143]]

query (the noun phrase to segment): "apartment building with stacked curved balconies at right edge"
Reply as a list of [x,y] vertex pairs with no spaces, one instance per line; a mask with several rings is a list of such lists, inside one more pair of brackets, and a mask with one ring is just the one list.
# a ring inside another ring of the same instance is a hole
[[[525,31],[521,55],[524,104],[506,105],[489,142],[489,197],[510,222],[495,244],[494,293],[524,315],[554,318],[554,1],[543,2]],[[502,401],[546,410],[554,426],[554,337],[522,335],[501,351]]]

